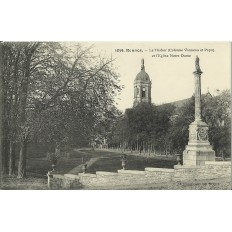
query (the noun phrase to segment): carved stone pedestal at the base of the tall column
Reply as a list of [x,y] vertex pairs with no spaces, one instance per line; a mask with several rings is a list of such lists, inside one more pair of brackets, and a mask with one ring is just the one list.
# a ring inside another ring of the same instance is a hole
[[208,141],[208,126],[199,119],[189,125],[189,142],[183,152],[183,165],[201,166],[215,161],[215,151]]

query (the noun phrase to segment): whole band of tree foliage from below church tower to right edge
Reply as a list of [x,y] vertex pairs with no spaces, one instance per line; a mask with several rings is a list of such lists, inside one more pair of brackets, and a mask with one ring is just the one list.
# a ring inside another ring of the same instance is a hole
[[[216,96],[202,95],[202,119],[209,126],[209,141],[217,156],[230,156],[231,111],[230,92]],[[127,109],[114,128],[112,144],[144,146],[161,153],[182,153],[188,144],[189,125],[194,121],[195,98],[192,96],[181,107],[172,104],[141,103]],[[137,144],[137,145],[136,145]]]

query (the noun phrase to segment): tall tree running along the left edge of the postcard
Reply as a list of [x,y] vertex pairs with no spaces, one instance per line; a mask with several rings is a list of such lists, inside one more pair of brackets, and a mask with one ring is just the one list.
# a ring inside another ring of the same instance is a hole
[[[10,170],[13,171],[14,144],[10,142],[15,135],[15,119],[18,111],[18,67],[20,48],[16,45],[10,46],[8,43],[2,44],[2,83],[3,83],[3,107],[4,107],[4,141],[3,141],[3,173],[8,172],[10,158]],[[10,157],[9,157],[10,156]]]

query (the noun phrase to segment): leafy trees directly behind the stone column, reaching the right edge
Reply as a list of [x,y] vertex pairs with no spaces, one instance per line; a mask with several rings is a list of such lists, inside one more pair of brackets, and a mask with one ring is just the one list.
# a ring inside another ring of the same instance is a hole
[[[202,95],[202,119],[209,126],[209,142],[216,155],[230,155],[230,92],[222,91],[218,96]],[[170,128],[172,150],[182,153],[188,144],[189,124],[194,121],[194,103],[192,97],[176,110],[176,117]]]

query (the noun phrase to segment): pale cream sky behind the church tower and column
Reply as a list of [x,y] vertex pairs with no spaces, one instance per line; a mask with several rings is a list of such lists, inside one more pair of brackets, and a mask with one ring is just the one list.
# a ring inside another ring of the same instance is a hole
[[[85,43],[88,45],[88,43]],[[133,106],[134,79],[144,58],[145,71],[152,81],[151,98],[163,104],[192,96],[196,55],[203,71],[202,94],[208,90],[230,89],[231,57],[228,42],[90,42],[102,55],[116,58],[115,65],[124,85],[117,107]],[[134,52],[127,49],[137,49]]]

